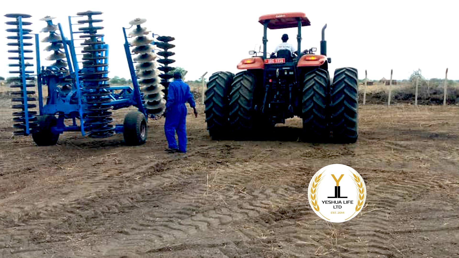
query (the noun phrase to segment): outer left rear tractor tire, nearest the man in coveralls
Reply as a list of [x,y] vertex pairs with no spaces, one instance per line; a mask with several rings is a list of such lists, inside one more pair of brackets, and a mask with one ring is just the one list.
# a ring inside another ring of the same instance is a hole
[[210,76],[207,83],[204,112],[206,113],[207,130],[213,140],[222,139],[228,135],[228,97],[233,79],[233,73],[217,72]]

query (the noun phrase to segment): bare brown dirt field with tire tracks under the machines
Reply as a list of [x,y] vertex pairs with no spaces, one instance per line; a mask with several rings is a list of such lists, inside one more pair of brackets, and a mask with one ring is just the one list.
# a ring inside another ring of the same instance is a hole
[[[300,119],[266,141],[212,141],[201,113],[188,153],[168,154],[164,120],[143,146],[66,133],[38,147],[11,136],[0,103],[0,257],[459,256],[458,107],[361,106],[351,145],[297,142]],[[368,191],[340,224],[307,197],[333,163]]]

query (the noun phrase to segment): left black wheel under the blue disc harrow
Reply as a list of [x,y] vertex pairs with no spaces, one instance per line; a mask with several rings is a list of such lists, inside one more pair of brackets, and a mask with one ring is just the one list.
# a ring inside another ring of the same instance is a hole
[[37,131],[32,134],[35,144],[38,146],[56,145],[60,134],[51,131],[51,127],[56,125],[57,118],[54,115],[39,116]]

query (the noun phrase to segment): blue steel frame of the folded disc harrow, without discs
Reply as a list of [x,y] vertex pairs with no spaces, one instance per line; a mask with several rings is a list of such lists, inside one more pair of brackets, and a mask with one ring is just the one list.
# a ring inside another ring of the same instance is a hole
[[[78,16],[79,17],[79,16]],[[39,113],[40,115],[58,115],[57,118],[57,125],[55,127],[51,128],[51,131],[53,133],[58,133],[62,134],[63,132],[78,132],[81,131],[81,134],[84,136],[85,131],[87,130],[84,127],[84,117],[85,117],[85,106],[86,104],[84,103],[84,98],[83,98],[83,82],[80,80],[78,72],[80,71],[78,67],[78,59],[77,59],[77,54],[75,52],[75,45],[74,45],[74,39],[73,39],[73,34],[77,34],[80,32],[73,32],[72,25],[75,25],[72,23],[72,16],[68,17],[68,23],[70,27],[70,40],[67,39],[64,36],[64,33],[62,31],[62,26],[61,23],[58,23],[58,28],[61,33],[62,37],[62,44],[64,46],[64,52],[65,56],[67,59],[68,63],[68,71],[70,73],[70,78],[72,79],[72,90],[70,93],[67,95],[59,95],[59,89],[57,87],[57,83],[59,82],[59,79],[63,79],[65,75],[59,74],[56,75],[49,75],[47,74],[48,69],[56,71],[56,67],[41,67],[40,70],[40,62],[39,62],[39,37],[38,34],[35,34],[35,43],[36,43],[36,56],[37,56],[37,79],[38,79],[38,88],[39,88]],[[19,24],[21,25],[21,20],[19,18]],[[20,30],[22,30],[22,26],[20,26]],[[134,65],[132,62],[132,58],[130,55],[130,50],[129,50],[129,43],[126,38],[126,33],[123,28],[124,32],[124,38],[125,38],[125,43],[124,43],[124,49],[126,51],[126,58],[128,60],[129,64],[129,71],[131,74],[131,79],[132,83],[134,85],[134,89],[131,88],[129,85],[126,86],[111,86],[106,88],[108,91],[111,92],[109,95],[109,98],[111,99],[110,102],[108,102],[106,105],[112,106],[113,110],[117,110],[123,107],[130,107],[134,106],[139,109],[140,112],[142,112],[145,117],[147,118],[146,114],[146,108],[143,106],[142,103],[142,98],[141,98],[141,93],[140,93],[140,87],[139,84],[137,84],[137,79],[135,77],[135,70],[134,70]],[[21,34],[21,49],[22,49],[22,32]],[[103,39],[102,39],[103,40]],[[107,59],[105,59],[104,63],[108,63],[108,45],[104,45],[103,48],[106,48],[104,51],[104,56],[107,56]],[[22,55],[23,59],[23,55]],[[22,70],[24,70],[24,62],[21,59],[22,62]],[[105,71],[108,69],[107,66],[103,67]],[[52,78],[54,76],[54,79]],[[25,85],[25,77],[22,79],[23,85]],[[48,84],[48,99],[46,105],[43,105],[43,96],[41,94],[41,88],[42,88],[42,83],[46,82]],[[24,90],[24,95],[25,95],[25,90],[26,87],[23,87]],[[120,91],[120,92],[115,92]],[[71,98],[75,96],[75,98],[78,100],[77,103],[72,104],[70,103]],[[27,96],[26,96],[27,97]],[[28,111],[27,111],[27,101],[24,100],[25,103],[25,112],[26,112],[26,133],[29,133],[29,128],[28,128]],[[76,115],[78,113],[78,116]],[[73,124],[70,126],[66,126],[64,124],[65,119],[71,118],[73,120]],[[78,126],[76,123],[76,119],[80,120],[80,125]],[[147,120],[148,121],[148,120]],[[117,124],[115,125],[114,128],[115,132],[117,133],[123,133],[123,124]]]

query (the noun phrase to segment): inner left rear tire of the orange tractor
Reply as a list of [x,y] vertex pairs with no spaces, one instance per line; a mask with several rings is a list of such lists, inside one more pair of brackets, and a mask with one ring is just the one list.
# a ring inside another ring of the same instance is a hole
[[229,124],[231,132],[238,137],[252,133],[254,121],[253,91],[256,78],[253,73],[244,71],[236,73],[232,90],[229,94]]

